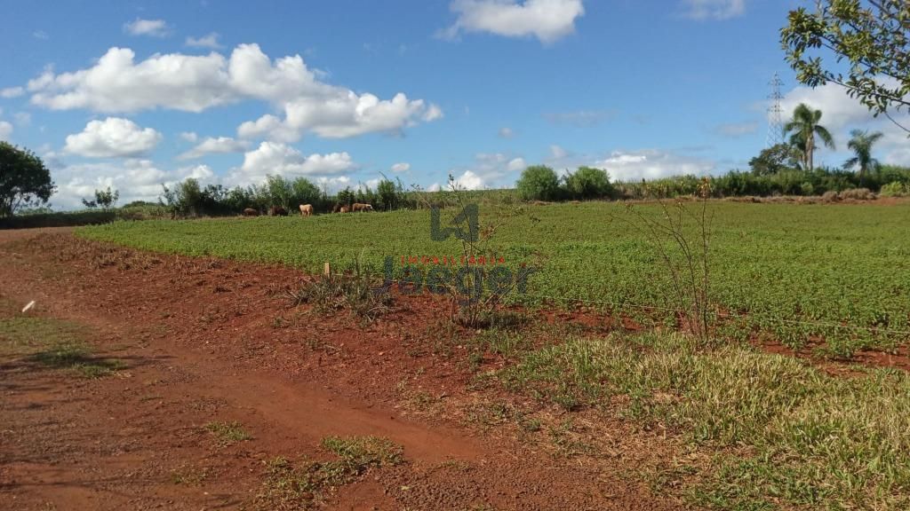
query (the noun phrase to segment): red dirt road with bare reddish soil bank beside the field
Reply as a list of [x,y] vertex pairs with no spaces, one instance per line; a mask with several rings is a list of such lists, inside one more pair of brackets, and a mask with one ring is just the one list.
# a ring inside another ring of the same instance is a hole
[[[440,344],[432,326],[444,313],[414,298],[361,326],[347,313],[288,308],[281,293],[302,278],[66,230],[0,231],[0,317],[35,300],[29,315],[85,326],[99,355],[126,364],[85,379],[0,358],[0,508],[269,508],[256,498],[266,461],[330,459],[320,440],[350,435],[387,437],[406,463],[326,491],[316,506],[680,508],[628,476],[634,456],[553,456],[444,411],[420,413],[414,396],[485,398],[461,346]],[[221,446],[203,427],[212,421],[238,421],[252,439]]]

